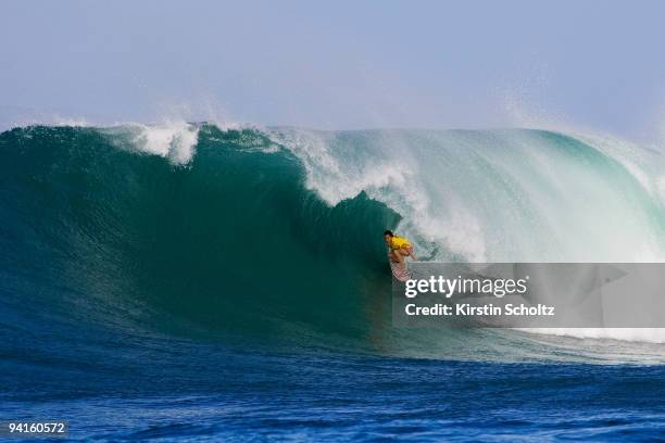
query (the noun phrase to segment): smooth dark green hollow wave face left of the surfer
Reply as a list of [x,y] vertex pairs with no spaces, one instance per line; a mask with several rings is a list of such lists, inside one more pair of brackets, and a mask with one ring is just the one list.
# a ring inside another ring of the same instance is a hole
[[256,149],[271,143],[259,132],[205,127],[186,165],[137,153],[126,131],[0,140],[2,266],[99,311],[308,340],[362,333],[364,305],[389,292],[381,233],[399,216],[363,193],[329,206],[291,153]]

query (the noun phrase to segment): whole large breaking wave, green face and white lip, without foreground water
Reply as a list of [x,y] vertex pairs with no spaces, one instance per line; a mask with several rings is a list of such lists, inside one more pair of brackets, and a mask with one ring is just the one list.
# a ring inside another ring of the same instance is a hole
[[[662,155],[615,139],[30,126],[2,132],[0,155],[7,303],[63,321],[403,355],[415,332],[390,328],[385,228],[430,260],[665,257]],[[419,352],[468,333],[419,334]]]

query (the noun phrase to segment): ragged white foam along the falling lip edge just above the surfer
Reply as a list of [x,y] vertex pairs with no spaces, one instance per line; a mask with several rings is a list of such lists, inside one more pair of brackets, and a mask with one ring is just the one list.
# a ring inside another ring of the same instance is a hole
[[331,144],[329,132],[291,130],[271,137],[302,161],[305,186],[328,204],[335,205],[364,191],[403,216],[398,230],[412,238],[421,251],[429,251],[436,243],[469,261],[486,260],[479,220],[454,195],[449,195],[450,211],[440,211],[440,202],[430,199],[418,174],[419,165],[400,137],[384,134],[384,149],[373,152],[368,160],[355,161],[340,154],[341,148]]

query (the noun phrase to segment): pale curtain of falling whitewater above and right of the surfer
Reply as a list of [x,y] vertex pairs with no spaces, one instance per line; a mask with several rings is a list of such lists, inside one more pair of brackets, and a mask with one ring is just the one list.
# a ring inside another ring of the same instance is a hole
[[[275,132],[276,136],[275,136]],[[543,130],[277,130],[306,185],[403,215],[426,255],[467,262],[661,262],[662,155]]]

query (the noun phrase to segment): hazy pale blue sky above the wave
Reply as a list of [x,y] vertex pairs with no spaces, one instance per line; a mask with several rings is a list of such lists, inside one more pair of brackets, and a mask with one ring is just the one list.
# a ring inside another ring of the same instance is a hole
[[568,125],[665,139],[665,2],[0,2],[0,123]]

